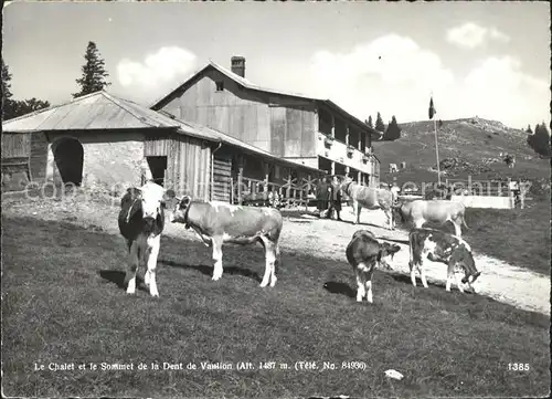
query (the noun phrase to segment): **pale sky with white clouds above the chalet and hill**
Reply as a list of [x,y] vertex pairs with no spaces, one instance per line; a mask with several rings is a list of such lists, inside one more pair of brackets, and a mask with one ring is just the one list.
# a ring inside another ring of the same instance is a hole
[[78,91],[94,41],[115,95],[150,106],[210,60],[364,120],[550,123],[548,2],[15,2],[2,57],[14,98]]

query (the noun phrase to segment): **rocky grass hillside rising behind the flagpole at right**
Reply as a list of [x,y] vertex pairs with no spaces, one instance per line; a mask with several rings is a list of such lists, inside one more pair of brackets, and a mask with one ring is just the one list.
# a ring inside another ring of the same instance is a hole
[[[439,126],[440,125],[440,126]],[[435,134],[433,120],[401,124],[401,138],[374,143],[381,160],[381,180],[435,181]],[[478,117],[437,122],[439,160],[444,178],[530,179],[550,181],[550,159],[542,159],[527,145],[527,133],[497,120]],[[500,155],[502,154],[502,156]],[[508,168],[506,154],[516,157]],[[406,162],[405,169],[389,172],[389,165]]]

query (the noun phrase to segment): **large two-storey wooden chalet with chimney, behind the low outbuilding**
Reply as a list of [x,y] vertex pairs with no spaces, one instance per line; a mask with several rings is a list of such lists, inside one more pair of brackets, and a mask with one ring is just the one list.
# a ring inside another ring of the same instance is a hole
[[372,147],[379,132],[329,99],[251,83],[244,57],[233,56],[231,69],[208,63],[152,109],[224,132],[283,159],[379,186],[380,161]]

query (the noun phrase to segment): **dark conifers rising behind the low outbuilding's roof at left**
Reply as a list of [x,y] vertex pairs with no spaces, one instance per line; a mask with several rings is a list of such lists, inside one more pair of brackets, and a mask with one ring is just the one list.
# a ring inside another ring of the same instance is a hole
[[[85,63],[82,66],[82,76],[76,81],[79,86],[77,93],[73,93],[73,98],[91,94],[109,86],[107,82],[109,74],[105,69],[105,61],[102,59],[96,43],[88,42],[84,54]],[[2,119],[8,120],[14,117],[25,115],[39,109],[47,108],[50,102],[35,97],[28,99],[14,99],[11,93],[11,78],[9,66],[2,59]]]

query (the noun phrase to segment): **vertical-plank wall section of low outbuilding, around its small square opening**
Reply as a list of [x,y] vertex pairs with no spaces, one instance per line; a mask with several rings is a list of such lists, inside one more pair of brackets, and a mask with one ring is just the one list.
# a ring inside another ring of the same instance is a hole
[[179,196],[210,199],[211,147],[206,141],[182,135],[149,136],[144,155],[167,156],[166,188],[172,188]]

